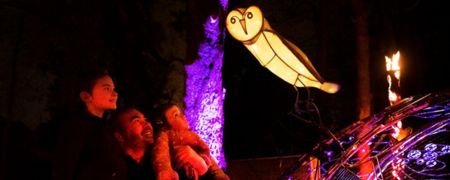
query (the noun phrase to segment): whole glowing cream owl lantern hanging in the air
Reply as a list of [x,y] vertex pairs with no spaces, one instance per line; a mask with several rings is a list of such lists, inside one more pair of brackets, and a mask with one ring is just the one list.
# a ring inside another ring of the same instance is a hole
[[297,46],[275,32],[257,6],[228,13],[228,32],[258,59],[262,66],[297,87],[315,87],[335,93],[339,85],[326,82]]

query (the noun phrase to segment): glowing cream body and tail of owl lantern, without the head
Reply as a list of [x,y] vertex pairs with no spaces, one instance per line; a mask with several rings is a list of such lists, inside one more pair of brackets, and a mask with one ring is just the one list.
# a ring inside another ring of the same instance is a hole
[[265,28],[252,44],[245,44],[260,64],[297,87],[315,87],[335,93],[339,85],[325,82],[308,57],[275,31]]

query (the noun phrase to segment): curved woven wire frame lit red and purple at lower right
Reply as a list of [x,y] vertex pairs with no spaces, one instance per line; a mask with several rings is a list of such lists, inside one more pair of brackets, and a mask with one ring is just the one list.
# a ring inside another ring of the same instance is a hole
[[[407,129],[401,140],[392,136],[399,121]],[[405,98],[302,157],[282,179],[450,179],[450,92]],[[314,162],[320,169],[310,168]],[[373,170],[361,174],[366,163]]]

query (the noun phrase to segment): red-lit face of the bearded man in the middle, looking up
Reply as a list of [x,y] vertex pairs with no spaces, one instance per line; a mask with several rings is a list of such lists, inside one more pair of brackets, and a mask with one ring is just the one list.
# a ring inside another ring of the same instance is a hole
[[119,118],[125,130],[123,137],[128,146],[145,148],[147,145],[153,144],[153,127],[144,114],[136,109],[130,109]]

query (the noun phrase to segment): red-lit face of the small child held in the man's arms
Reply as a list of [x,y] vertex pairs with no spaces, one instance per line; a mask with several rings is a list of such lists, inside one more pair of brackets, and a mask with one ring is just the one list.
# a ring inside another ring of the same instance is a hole
[[178,106],[171,106],[164,112],[164,115],[166,116],[167,123],[171,126],[171,128],[176,130],[189,129],[186,116],[184,116],[183,111]]

